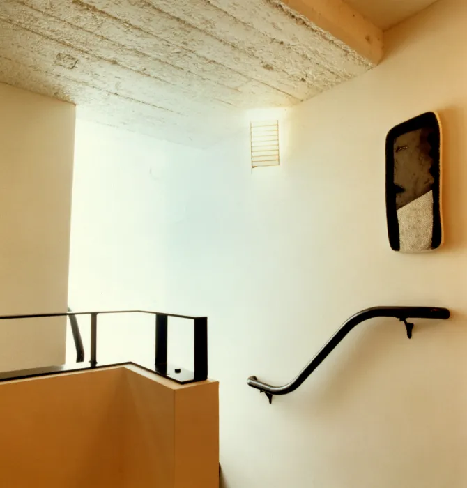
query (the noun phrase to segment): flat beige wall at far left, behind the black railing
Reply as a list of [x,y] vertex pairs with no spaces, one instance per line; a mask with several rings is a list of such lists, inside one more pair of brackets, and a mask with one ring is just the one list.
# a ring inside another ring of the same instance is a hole
[[[66,311],[75,107],[0,84],[0,314]],[[0,370],[62,364],[62,319],[0,324]]]

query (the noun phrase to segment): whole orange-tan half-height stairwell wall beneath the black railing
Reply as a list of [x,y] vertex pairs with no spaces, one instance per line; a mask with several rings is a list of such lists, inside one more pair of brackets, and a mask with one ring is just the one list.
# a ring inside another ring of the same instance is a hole
[[0,383],[0,487],[218,488],[218,383],[131,365]]

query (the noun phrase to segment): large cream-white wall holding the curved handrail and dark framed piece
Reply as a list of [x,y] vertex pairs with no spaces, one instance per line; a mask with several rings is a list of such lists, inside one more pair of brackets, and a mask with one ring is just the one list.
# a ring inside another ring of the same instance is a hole
[[[289,113],[279,168],[251,171],[247,130],[190,153],[79,128],[71,300],[208,315],[226,487],[466,486],[466,24],[464,0],[440,0],[392,29],[381,66]],[[397,254],[385,134],[433,109],[446,245]],[[289,381],[373,305],[452,319],[415,321],[411,341],[395,319],[369,321],[272,406],[247,388],[252,374]]]

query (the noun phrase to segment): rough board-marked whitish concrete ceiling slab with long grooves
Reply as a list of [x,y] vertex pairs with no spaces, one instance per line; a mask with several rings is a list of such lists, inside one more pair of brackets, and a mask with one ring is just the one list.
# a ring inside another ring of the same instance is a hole
[[0,0],[0,82],[208,146],[372,67],[270,0]]

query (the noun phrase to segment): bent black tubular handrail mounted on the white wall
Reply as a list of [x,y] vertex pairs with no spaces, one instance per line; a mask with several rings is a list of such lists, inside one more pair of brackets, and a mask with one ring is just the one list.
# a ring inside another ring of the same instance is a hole
[[266,393],[269,403],[273,402],[273,395],[287,395],[295,391],[314,370],[323,363],[333,349],[341,342],[344,337],[359,323],[375,317],[395,317],[404,322],[407,330],[407,337],[411,339],[413,323],[408,323],[407,319],[449,319],[450,311],[446,308],[432,307],[372,307],[353,315],[344,325],[337,330],[329,342],[323,346],[321,351],[302,369],[302,371],[289,383],[283,386],[273,386],[259,381],[256,376],[250,376],[247,380],[248,386],[257,388],[261,393]]

